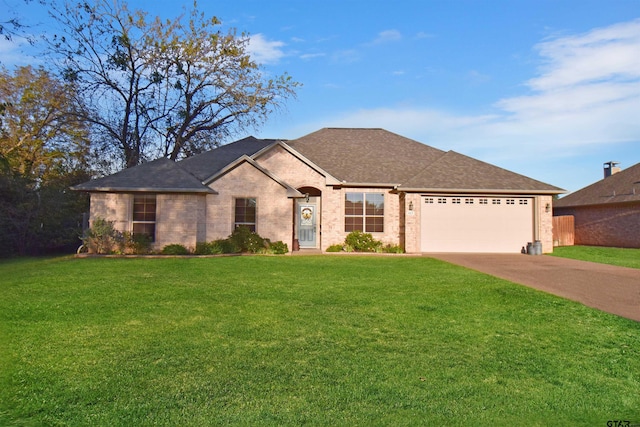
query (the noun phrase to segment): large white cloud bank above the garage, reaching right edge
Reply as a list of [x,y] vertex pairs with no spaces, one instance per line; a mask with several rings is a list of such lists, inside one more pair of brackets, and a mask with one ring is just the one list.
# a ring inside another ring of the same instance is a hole
[[529,93],[496,101],[492,114],[374,108],[314,127],[383,127],[489,161],[544,161],[640,142],[640,20],[547,40],[535,49],[544,65],[523,82]]

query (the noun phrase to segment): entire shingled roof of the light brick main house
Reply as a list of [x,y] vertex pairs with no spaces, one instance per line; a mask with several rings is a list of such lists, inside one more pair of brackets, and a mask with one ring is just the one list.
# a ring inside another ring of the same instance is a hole
[[[209,192],[238,162],[282,147],[327,178],[327,185],[394,187],[403,191],[527,192],[564,190],[514,172],[445,152],[384,129],[325,128],[287,141],[252,136],[174,163],[161,158],[72,187],[82,191]],[[264,168],[288,193],[295,191]],[[297,197],[293,195],[291,197]]]

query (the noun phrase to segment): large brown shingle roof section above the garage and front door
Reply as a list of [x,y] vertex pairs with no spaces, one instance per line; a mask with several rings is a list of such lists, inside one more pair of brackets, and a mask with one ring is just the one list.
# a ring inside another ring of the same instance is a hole
[[394,185],[405,191],[564,190],[454,151],[384,129],[325,128],[287,145],[346,184]]

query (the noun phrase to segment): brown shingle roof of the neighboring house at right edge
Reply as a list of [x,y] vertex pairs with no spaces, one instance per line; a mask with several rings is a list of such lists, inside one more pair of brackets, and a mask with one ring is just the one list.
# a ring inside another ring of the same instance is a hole
[[554,208],[640,202],[640,163],[554,201]]

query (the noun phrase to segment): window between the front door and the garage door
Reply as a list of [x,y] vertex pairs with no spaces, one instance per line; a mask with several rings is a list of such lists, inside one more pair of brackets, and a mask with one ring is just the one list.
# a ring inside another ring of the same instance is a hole
[[344,231],[384,232],[384,194],[346,193]]

